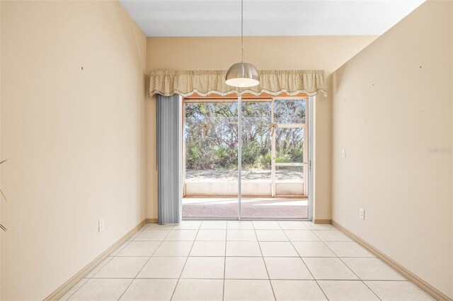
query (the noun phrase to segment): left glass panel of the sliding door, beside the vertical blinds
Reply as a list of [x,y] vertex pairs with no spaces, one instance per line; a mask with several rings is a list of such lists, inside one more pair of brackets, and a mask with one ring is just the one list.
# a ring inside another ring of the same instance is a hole
[[183,218],[234,218],[238,210],[236,101],[185,102]]

